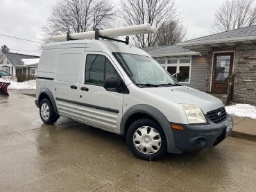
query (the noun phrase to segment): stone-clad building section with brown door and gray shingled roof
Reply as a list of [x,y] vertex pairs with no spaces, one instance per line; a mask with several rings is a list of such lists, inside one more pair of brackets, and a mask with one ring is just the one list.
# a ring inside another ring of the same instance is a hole
[[256,25],[178,45],[207,57],[205,91],[226,94],[228,82],[225,79],[235,72],[233,101],[256,105]]

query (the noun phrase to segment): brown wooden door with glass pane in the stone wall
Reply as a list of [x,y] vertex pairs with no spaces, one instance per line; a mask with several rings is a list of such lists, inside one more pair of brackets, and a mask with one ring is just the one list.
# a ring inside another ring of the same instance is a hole
[[214,94],[227,94],[228,76],[233,69],[234,52],[214,53],[212,89]]

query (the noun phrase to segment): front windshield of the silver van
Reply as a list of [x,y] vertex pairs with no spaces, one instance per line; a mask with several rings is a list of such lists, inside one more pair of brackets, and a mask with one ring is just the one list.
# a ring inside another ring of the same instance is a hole
[[180,86],[153,58],[128,53],[113,53],[124,71],[139,87]]

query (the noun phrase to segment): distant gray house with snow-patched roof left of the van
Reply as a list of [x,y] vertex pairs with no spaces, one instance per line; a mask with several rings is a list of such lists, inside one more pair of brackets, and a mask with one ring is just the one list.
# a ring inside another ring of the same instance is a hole
[[17,76],[19,73],[37,75],[38,56],[19,53],[0,53],[0,69]]

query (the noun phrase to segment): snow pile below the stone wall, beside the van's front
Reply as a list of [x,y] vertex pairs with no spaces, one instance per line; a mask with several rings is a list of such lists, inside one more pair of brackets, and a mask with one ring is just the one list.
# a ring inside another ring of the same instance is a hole
[[248,117],[251,119],[256,119],[256,107],[249,104],[236,104],[225,107],[228,114],[239,117]]

